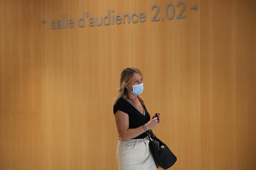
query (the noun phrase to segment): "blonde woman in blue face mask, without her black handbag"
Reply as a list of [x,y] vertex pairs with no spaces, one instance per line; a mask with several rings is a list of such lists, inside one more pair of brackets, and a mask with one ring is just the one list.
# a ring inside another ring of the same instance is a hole
[[135,68],[121,73],[120,88],[113,107],[119,141],[117,144],[118,168],[132,170],[157,169],[149,148],[147,129],[157,127],[160,113],[150,120],[144,99],[143,75]]

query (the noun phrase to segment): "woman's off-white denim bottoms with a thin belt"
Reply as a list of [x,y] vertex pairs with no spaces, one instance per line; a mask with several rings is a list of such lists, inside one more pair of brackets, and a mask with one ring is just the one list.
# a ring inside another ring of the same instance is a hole
[[157,170],[149,148],[148,137],[126,141],[119,138],[117,164],[119,170]]

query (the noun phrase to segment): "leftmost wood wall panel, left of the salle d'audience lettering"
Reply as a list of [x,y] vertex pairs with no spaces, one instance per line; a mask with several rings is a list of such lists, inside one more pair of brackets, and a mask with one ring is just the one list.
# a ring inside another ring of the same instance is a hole
[[0,4],[0,167],[35,169],[44,157],[39,4]]

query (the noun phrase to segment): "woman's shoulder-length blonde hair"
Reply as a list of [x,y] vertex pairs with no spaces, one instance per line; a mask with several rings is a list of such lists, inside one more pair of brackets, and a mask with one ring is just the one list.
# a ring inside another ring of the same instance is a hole
[[[128,90],[125,88],[125,86],[130,82],[134,72],[138,73],[139,75],[141,75],[141,77],[143,77],[141,71],[132,67],[128,67],[122,71],[120,78],[120,87],[118,88],[119,92],[117,94],[117,97],[115,97],[114,99],[114,104],[116,104],[117,100],[120,99],[123,95],[126,95],[127,98],[130,99],[128,97]],[[144,104],[144,98],[142,96],[137,95],[137,98],[142,102],[142,104]]]

